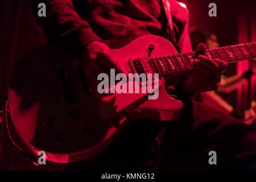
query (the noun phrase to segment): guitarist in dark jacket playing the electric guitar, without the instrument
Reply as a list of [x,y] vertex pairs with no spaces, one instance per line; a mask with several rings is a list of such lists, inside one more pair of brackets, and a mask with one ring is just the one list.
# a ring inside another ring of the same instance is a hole
[[[40,0],[33,1],[34,10],[40,2],[46,3],[47,16],[36,21],[48,41],[59,41],[79,58],[84,72],[90,69],[96,76],[110,68],[125,73],[110,48],[126,46],[139,36],[163,36],[177,51],[191,51],[188,11],[175,0]],[[206,47],[199,44],[197,49]],[[106,151],[65,168],[255,169],[255,129],[189,99],[216,89],[227,64],[200,55],[193,65],[199,71],[173,90],[184,103],[179,121],[135,121]],[[216,165],[208,163],[209,151],[216,151]]]

